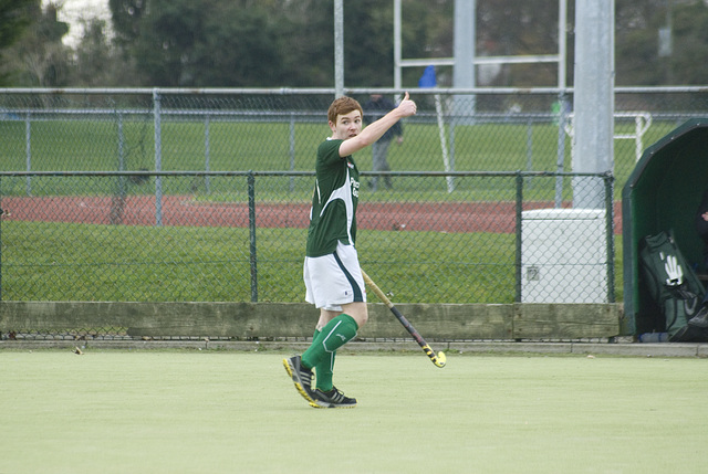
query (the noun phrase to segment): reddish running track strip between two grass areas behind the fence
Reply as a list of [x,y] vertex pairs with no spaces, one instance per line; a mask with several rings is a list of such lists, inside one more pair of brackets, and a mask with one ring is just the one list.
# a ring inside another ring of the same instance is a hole
[[[552,208],[552,202],[527,202],[524,210]],[[154,196],[118,197],[11,197],[2,198],[3,220],[91,224],[154,225]],[[622,208],[615,203],[615,233],[622,233]],[[516,228],[513,202],[362,202],[360,229],[437,232],[511,233]],[[258,203],[260,228],[305,229],[310,203]],[[246,203],[195,201],[190,196],[162,200],[163,225],[238,227],[249,224]]]

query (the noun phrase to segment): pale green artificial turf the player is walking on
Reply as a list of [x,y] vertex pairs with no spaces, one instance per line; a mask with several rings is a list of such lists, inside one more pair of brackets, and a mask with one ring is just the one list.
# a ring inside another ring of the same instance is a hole
[[0,473],[708,468],[708,360],[343,352],[316,410],[287,356],[0,351]]

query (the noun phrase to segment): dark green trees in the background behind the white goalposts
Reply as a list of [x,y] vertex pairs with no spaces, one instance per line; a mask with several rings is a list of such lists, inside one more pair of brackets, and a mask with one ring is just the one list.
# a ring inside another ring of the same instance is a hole
[[[333,0],[108,0],[75,46],[61,2],[0,2],[0,85],[24,87],[332,87]],[[451,57],[455,0],[403,0],[404,59]],[[391,87],[393,0],[344,1],[348,87]],[[574,0],[569,0],[568,81]],[[667,34],[667,31],[670,33]],[[708,84],[705,0],[615,0],[617,85]],[[558,52],[558,0],[477,0],[477,54]],[[478,70],[479,85],[554,86],[556,64]],[[404,69],[417,85],[423,69]],[[451,69],[438,67],[451,86]]]

